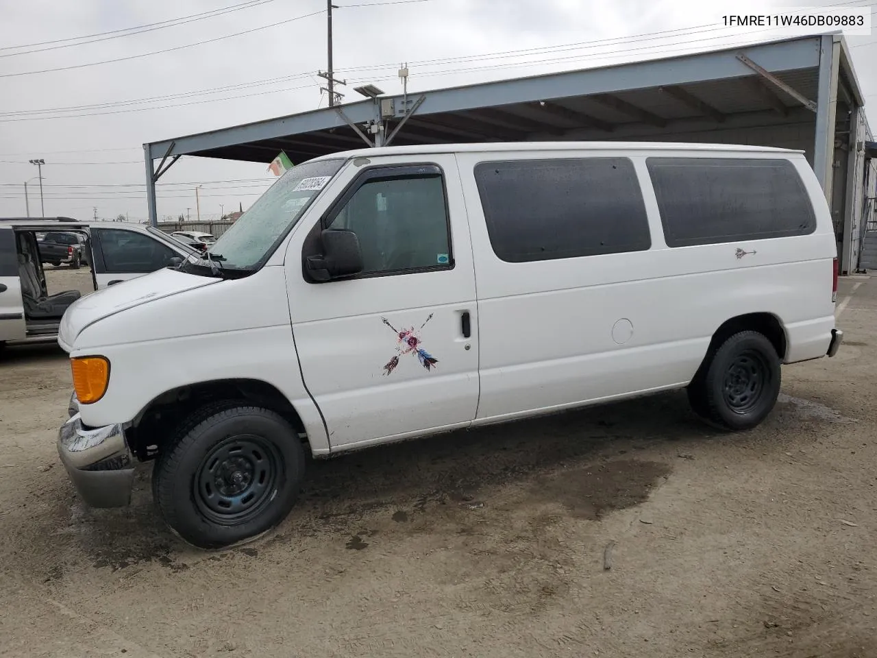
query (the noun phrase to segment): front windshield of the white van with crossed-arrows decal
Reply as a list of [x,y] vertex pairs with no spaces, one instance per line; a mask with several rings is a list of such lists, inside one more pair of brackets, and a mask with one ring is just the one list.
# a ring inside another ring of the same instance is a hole
[[324,160],[289,169],[210,245],[211,258],[223,269],[259,266],[343,164],[343,159]]

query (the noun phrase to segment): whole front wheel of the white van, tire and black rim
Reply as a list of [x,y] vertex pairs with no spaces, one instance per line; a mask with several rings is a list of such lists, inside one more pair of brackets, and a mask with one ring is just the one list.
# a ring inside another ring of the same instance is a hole
[[165,522],[199,548],[221,548],[286,517],[304,476],[295,429],[274,411],[212,405],[193,414],[153,469]]

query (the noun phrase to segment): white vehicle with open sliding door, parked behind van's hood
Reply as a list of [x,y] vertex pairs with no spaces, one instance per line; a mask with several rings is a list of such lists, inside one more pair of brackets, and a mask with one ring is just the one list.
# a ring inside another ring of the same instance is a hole
[[[42,242],[37,239],[39,232],[45,232]],[[82,240],[83,261],[93,264],[95,290],[182,262],[195,253],[163,232],[139,224],[0,218],[0,348],[57,340],[61,317],[82,297],[81,290],[49,294],[42,263],[53,243],[46,240],[65,235]]]

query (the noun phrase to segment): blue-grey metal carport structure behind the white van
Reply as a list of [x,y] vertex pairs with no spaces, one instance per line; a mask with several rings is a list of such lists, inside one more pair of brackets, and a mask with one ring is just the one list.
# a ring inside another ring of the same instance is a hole
[[751,144],[807,154],[831,205],[847,273],[859,258],[862,199],[873,196],[862,176],[864,142],[872,139],[863,106],[840,34],[379,96],[145,144],[149,219],[156,224],[155,182],[182,155],[267,163],[281,151],[301,162],[364,144]]

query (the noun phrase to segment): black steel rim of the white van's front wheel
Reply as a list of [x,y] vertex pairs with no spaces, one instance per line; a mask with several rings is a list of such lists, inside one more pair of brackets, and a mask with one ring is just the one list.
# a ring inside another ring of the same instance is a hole
[[282,455],[271,441],[252,434],[221,440],[195,472],[199,511],[224,526],[255,519],[274,499],[282,468]]

